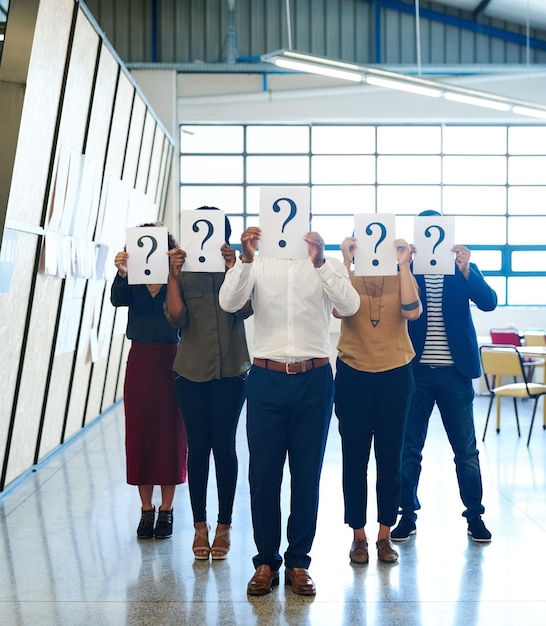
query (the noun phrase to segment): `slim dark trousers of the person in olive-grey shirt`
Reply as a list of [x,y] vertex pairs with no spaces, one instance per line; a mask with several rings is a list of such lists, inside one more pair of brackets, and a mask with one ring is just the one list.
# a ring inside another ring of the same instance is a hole
[[238,462],[235,435],[244,403],[243,376],[195,383],[174,379],[176,399],[188,436],[188,485],[194,522],[207,519],[210,453],[218,489],[218,523],[231,524]]

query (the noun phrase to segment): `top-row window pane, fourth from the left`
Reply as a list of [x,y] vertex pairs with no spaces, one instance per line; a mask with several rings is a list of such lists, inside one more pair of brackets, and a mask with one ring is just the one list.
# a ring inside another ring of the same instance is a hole
[[379,126],[377,152],[380,154],[440,154],[440,126]]

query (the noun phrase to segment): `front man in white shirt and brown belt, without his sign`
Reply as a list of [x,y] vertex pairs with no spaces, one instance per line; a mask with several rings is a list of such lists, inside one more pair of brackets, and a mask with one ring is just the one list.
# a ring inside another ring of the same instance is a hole
[[280,491],[288,454],[291,506],[285,583],[297,594],[314,595],[309,552],[333,404],[329,323],[334,307],[343,316],[354,315],[360,297],[341,261],[324,257],[318,233],[305,235],[308,259],[275,259],[255,256],[260,232],[249,227],[241,235],[243,252],[220,289],[224,310],[237,311],[249,298],[254,310],[247,436],[258,554],[247,592],[264,595],[279,584]]

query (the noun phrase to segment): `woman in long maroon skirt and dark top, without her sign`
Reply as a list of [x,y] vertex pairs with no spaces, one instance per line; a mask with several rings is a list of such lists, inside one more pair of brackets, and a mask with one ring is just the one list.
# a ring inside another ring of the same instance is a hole
[[[142,224],[142,227],[163,224]],[[170,249],[176,241],[168,235]],[[173,500],[176,485],[186,481],[187,440],[184,422],[172,383],[172,365],[178,348],[178,331],[163,313],[167,285],[130,285],[123,250],[116,254],[117,274],[110,300],[129,309],[127,359],[123,402],[127,483],[137,485],[142,511],[139,539],[165,539],[173,532]],[[154,485],[161,486],[157,522],[152,503]]]

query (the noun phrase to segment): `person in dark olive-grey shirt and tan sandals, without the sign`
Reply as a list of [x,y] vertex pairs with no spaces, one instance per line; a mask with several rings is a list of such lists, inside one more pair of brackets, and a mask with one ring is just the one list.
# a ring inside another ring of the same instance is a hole
[[[230,234],[229,219],[225,217],[221,253],[226,270],[235,264]],[[185,271],[186,252],[180,248],[171,250],[169,258],[165,315],[180,329],[173,369],[175,392],[188,433],[188,482],[195,528],[192,550],[198,560],[209,556],[225,559],[230,549],[238,473],[235,435],[250,367],[244,319],[252,310],[246,303],[233,313],[220,308],[218,293],[225,272]],[[211,451],[218,490],[218,521],[212,546],[206,510]]]

